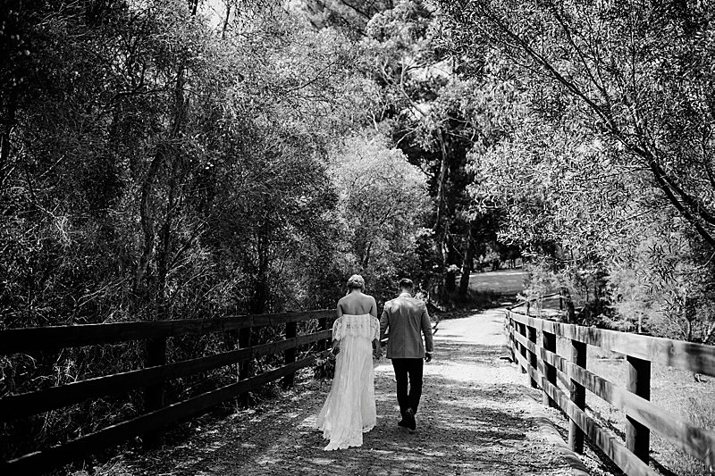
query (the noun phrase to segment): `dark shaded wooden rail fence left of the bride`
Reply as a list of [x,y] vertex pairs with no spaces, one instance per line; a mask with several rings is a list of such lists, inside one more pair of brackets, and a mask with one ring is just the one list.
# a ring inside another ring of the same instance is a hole
[[[206,320],[120,322],[0,330],[0,354],[33,353],[67,347],[114,344],[143,340],[146,363],[143,369],[80,380],[67,385],[43,388],[21,395],[0,398],[0,422],[8,422],[33,414],[44,413],[90,398],[115,396],[129,390],[144,389],[144,413],[125,422],[38,452],[22,455],[0,463],[0,474],[10,476],[46,472],[63,463],[70,463],[96,453],[137,435],[153,441],[160,430],[172,422],[202,413],[207,408],[233,397],[248,397],[248,391],[272,380],[283,378],[292,385],[297,370],[315,361],[317,354],[296,361],[296,349],[317,343],[318,350],[326,348],[331,330],[328,318],[334,311],[281,313],[233,316]],[[318,331],[298,336],[298,322],[317,320]],[[250,346],[251,330],[260,326],[285,326],[285,339]],[[166,340],[179,336],[198,336],[215,332],[239,332],[239,348],[222,354],[207,355],[175,363],[166,363]],[[259,355],[284,352],[282,367],[252,375],[250,361]],[[189,399],[164,405],[164,382],[206,372],[226,365],[240,363],[240,380]]]

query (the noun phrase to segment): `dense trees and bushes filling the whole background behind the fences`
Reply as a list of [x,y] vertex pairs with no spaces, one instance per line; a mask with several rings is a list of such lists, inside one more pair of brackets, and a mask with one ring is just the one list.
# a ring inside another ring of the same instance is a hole
[[[523,255],[568,319],[713,343],[711,6],[8,0],[0,327],[332,307],[353,272],[450,305]],[[2,396],[143,348],[0,358]],[[0,452],[141,406],[4,424]]]

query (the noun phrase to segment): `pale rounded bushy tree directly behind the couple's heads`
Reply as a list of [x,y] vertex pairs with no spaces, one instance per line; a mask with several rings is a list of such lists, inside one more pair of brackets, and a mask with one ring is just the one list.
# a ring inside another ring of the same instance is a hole
[[330,174],[347,270],[365,273],[385,296],[403,275],[419,278],[414,257],[431,207],[422,172],[385,139],[358,136],[335,151]]

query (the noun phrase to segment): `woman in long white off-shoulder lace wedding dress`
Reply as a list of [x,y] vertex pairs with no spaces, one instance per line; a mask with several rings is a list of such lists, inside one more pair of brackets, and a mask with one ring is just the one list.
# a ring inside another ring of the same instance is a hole
[[376,422],[373,356],[382,354],[380,322],[374,297],[364,291],[363,277],[352,275],[332,325],[335,376],[317,420],[323,438],[330,440],[326,451],[362,446],[363,433]]

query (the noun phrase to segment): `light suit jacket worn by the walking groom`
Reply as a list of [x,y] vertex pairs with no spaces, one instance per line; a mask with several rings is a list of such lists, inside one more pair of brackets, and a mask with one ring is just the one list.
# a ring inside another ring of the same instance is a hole
[[[390,329],[387,341],[388,359],[421,359],[425,350],[432,352],[432,325],[424,301],[402,293],[385,303],[380,318],[380,338]],[[422,335],[425,335],[425,345]]]

